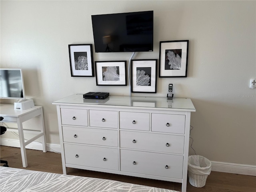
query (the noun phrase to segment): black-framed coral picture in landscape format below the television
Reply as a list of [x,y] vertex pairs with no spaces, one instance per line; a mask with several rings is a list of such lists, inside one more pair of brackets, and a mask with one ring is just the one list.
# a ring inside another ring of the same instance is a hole
[[96,61],[96,85],[126,86],[126,61]]

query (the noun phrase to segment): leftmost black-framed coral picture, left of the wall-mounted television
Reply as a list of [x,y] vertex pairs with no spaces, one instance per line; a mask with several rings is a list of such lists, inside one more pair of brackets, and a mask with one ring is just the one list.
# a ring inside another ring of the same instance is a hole
[[94,77],[92,44],[68,45],[72,77]]

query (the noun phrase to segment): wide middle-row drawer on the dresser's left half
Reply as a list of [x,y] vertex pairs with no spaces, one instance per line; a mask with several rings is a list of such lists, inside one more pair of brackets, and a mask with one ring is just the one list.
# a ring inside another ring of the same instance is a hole
[[117,130],[62,126],[63,141],[72,143],[118,146]]

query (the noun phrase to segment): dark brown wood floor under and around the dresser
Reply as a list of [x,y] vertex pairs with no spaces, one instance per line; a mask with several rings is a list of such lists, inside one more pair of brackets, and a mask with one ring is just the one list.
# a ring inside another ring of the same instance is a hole
[[[60,154],[54,152],[43,153],[42,151],[38,150],[26,149],[28,167],[23,168],[20,148],[0,146],[0,149],[1,160],[7,160],[10,167],[62,174],[62,162]],[[1,166],[2,165],[3,164],[1,164]],[[178,191],[181,190],[181,184],[179,183],[137,178],[131,176],[93,172],[74,168],[68,168],[68,174],[118,180],[122,182],[136,183]],[[256,192],[256,176],[212,171],[211,174],[208,176],[206,180],[206,185],[204,187],[196,188],[190,185],[190,183],[188,182],[187,192]]]

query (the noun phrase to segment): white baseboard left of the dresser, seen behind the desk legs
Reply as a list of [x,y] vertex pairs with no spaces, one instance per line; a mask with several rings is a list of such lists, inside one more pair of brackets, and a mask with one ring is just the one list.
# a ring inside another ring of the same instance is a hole
[[[20,147],[20,141],[15,139],[0,138],[0,144],[10,147]],[[60,153],[60,145],[46,144],[47,151]],[[26,146],[26,149],[43,150],[42,143],[33,141]]]

